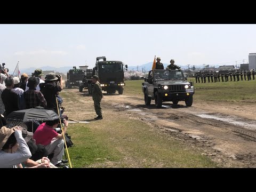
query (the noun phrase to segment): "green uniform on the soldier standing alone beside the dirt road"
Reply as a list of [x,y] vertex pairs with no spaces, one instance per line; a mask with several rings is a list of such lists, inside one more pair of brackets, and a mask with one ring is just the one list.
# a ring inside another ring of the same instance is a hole
[[98,116],[102,116],[100,101],[103,97],[100,83],[97,81],[92,87],[92,100],[94,102],[94,109]]

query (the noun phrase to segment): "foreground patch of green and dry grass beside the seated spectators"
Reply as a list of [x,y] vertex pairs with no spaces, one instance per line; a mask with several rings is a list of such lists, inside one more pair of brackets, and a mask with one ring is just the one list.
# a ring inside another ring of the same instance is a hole
[[73,167],[215,167],[182,142],[156,134],[139,120],[108,119],[72,124],[74,147],[68,148]]

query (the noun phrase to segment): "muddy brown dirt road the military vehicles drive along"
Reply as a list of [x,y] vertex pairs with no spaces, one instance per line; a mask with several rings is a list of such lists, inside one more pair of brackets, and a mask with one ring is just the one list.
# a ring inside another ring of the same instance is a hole
[[[81,103],[93,105],[87,90],[65,90],[80,101],[65,100],[70,118],[84,120],[90,118],[93,108],[85,110]],[[143,98],[126,95],[107,95],[103,92],[104,113],[117,117],[139,119],[155,131],[165,132],[171,137],[185,142],[191,148],[210,156],[223,167],[256,167],[256,103],[201,102],[194,97],[191,107],[184,101],[178,105],[163,103],[156,108],[154,100],[146,107]],[[77,114],[76,111],[80,111]]]

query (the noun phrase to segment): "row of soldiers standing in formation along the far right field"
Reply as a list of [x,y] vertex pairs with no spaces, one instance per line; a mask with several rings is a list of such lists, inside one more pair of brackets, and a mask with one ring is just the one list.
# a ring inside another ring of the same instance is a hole
[[233,77],[233,81],[239,81],[240,78],[241,78],[241,81],[243,81],[243,77],[244,77],[244,81],[246,81],[246,76],[247,76],[247,80],[250,81],[251,75],[254,80],[254,73],[255,73],[254,69],[251,69],[251,70],[235,69],[235,70],[220,70],[220,71],[203,70],[200,72],[196,72],[195,78],[196,78],[196,83],[200,83],[200,79],[201,79],[201,83],[206,83],[206,77],[209,83],[210,83],[210,79],[212,83],[213,81],[218,82],[218,80],[220,82],[220,78],[222,82],[224,82],[224,79],[225,79],[225,82],[228,82],[228,77],[230,77],[230,81],[232,81],[232,77]]

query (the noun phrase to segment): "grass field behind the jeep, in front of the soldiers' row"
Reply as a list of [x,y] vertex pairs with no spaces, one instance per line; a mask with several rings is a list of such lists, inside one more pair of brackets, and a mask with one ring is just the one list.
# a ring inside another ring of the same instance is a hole
[[[143,98],[141,89],[143,81],[126,81],[124,93]],[[256,80],[216,83],[208,83],[206,80],[206,83],[195,83],[195,78],[189,78],[188,81],[194,82],[195,101],[256,102]]]

